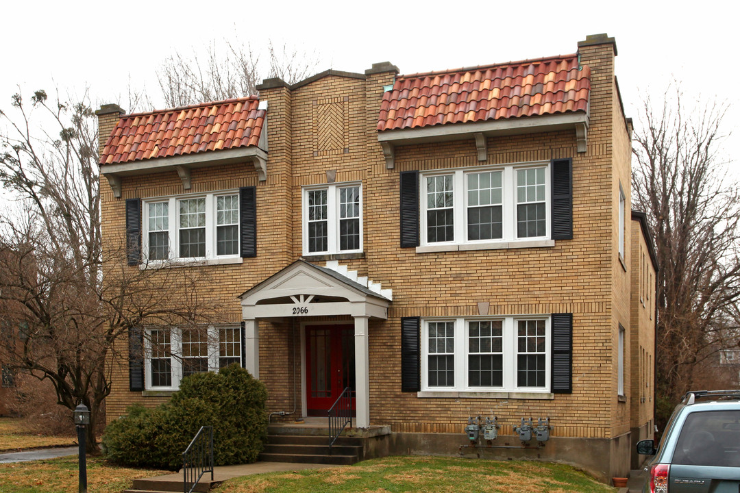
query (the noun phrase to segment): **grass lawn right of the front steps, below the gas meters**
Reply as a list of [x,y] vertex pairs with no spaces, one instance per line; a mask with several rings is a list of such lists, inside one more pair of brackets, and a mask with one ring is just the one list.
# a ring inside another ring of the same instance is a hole
[[213,493],[613,493],[616,489],[560,464],[440,457],[388,457],[354,466],[228,480]]

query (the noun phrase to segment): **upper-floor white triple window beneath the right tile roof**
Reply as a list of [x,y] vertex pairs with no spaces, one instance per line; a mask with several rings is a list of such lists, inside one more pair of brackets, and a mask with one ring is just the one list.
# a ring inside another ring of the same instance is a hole
[[422,245],[551,237],[548,162],[430,171],[420,180]]

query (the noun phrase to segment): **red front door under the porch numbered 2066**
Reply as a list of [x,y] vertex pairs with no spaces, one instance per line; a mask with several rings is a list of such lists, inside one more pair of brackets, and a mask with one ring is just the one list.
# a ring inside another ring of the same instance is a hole
[[351,389],[354,409],[354,327],[306,327],[306,407],[309,416],[326,416],[342,391]]

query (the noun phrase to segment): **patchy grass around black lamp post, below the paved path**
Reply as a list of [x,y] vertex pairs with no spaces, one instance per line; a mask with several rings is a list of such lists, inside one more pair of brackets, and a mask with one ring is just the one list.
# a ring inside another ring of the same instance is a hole
[[[0,464],[0,492],[49,493],[78,491],[77,456]],[[112,466],[102,458],[87,458],[87,491],[121,493],[137,477],[170,474],[151,469]]]

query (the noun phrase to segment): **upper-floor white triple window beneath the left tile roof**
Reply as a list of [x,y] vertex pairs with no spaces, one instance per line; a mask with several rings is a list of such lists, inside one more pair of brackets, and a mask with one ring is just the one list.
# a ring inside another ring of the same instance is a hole
[[147,199],[142,209],[146,262],[240,258],[238,191]]

